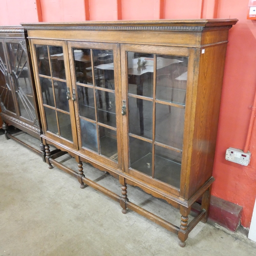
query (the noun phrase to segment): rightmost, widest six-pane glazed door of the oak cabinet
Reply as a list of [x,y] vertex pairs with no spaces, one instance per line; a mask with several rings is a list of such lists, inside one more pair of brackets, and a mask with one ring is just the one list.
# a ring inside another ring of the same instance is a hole
[[121,59],[125,172],[179,195],[188,49],[121,45]]

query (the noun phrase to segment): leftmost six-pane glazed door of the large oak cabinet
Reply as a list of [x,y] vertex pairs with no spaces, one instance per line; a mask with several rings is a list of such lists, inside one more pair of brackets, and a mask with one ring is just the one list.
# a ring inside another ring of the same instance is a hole
[[44,134],[77,147],[67,42],[31,39]]

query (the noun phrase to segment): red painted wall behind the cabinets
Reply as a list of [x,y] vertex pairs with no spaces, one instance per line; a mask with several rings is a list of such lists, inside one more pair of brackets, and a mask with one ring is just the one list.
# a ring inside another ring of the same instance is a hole
[[228,147],[244,148],[256,89],[256,20],[248,0],[1,0],[0,25],[116,19],[238,18],[229,32],[212,195],[243,206],[249,227],[256,195],[256,122],[249,166],[225,160]]

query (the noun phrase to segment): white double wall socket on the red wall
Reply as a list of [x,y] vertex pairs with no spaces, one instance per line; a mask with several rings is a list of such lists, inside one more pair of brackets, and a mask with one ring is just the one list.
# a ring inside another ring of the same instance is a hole
[[250,162],[251,153],[247,152],[244,153],[242,150],[238,150],[237,148],[229,147],[226,150],[226,157],[225,159],[234,162],[239,163],[241,165],[247,166]]

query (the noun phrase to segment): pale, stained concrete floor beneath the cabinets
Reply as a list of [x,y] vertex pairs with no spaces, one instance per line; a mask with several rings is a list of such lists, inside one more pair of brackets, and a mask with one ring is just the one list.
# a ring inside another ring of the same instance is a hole
[[[37,144],[37,141],[31,143]],[[74,159],[61,161],[76,168]],[[84,164],[90,179],[120,194],[110,175]],[[199,223],[181,248],[172,232],[129,210],[0,136],[0,256],[6,255],[256,255],[256,243],[237,231]],[[130,201],[179,225],[179,212],[127,188]]]

